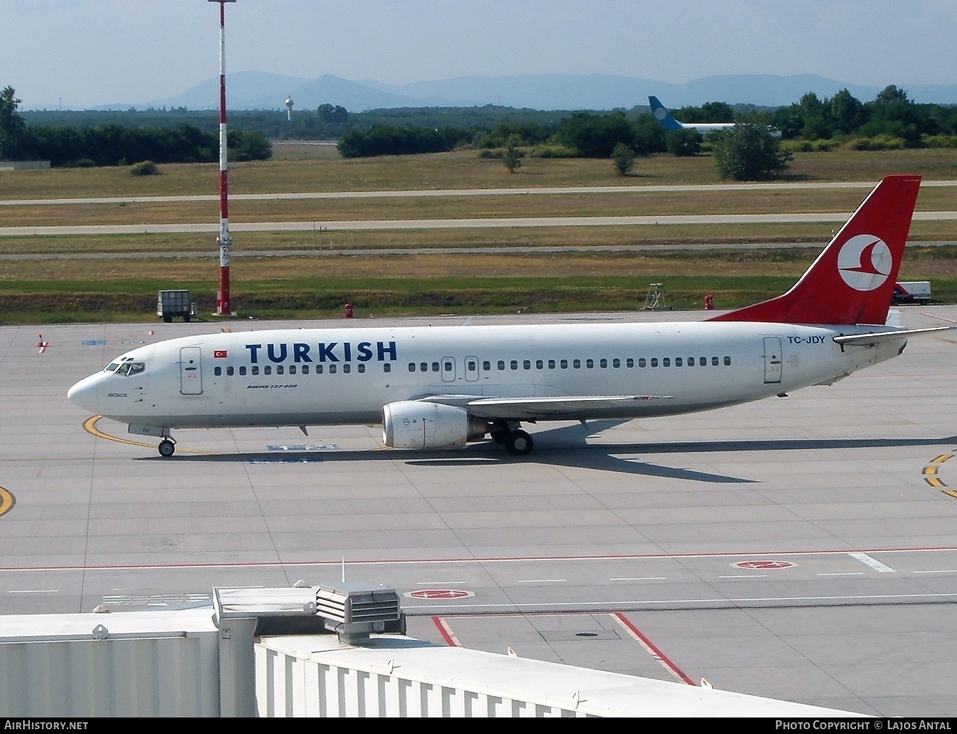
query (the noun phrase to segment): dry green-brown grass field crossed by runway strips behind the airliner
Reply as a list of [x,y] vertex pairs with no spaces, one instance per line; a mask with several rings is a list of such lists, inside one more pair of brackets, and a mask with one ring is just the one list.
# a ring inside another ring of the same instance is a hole
[[[530,189],[563,186],[644,186],[720,183],[708,157],[639,159],[635,175],[619,176],[609,161],[525,159],[510,175],[475,151],[345,161],[329,145],[277,145],[271,161],[231,169],[231,193],[404,189]],[[161,175],[131,176],[127,168],[0,171],[0,200],[215,195],[209,165],[162,166]],[[876,183],[889,173],[926,180],[957,179],[957,151],[913,150],[798,153],[790,180]],[[953,210],[952,188],[925,188],[918,211]],[[665,284],[675,308],[700,307],[705,293],[718,308],[776,295],[800,276],[834,232],[827,224],[514,228],[375,233],[327,232],[336,219],[407,219],[606,214],[850,212],[866,189],[708,191],[680,193],[528,194],[478,197],[231,200],[231,221],[315,221],[315,233],[234,234],[234,307],[252,318],[496,313],[640,308],[651,282]],[[218,221],[218,203],[30,204],[0,207],[3,226],[160,224]],[[156,291],[188,288],[211,312],[218,279],[211,234],[0,237],[0,254],[165,253],[173,258],[26,259],[0,265],[0,323],[143,321],[155,318]],[[938,300],[957,300],[957,241],[948,221],[915,222],[901,279],[929,279]],[[794,243],[748,250],[746,243]],[[720,250],[667,249],[695,244]],[[599,253],[602,245],[637,245],[641,252]],[[573,246],[560,254],[509,255],[492,247]],[[469,247],[474,254],[443,253]],[[428,255],[355,256],[349,250],[428,248]],[[657,248],[654,249],[654,248]],[[591,250],[591,251],[590,251]],[[244,253],[294,251],[293,256]],[[336,254],[332,254],[336,251]],[[342,252],[345,251],[345,252]]]

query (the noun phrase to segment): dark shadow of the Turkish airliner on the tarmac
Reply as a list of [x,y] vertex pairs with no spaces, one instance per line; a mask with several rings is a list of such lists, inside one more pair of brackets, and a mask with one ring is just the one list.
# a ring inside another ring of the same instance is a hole
[[[608,427],[607,425],[605,426]],[[281,451],[215,455],[179,454],[173,458],[143,456],[142,461],[190,461],[202,463],[320,463],[329,461],[405,461],[412,466],[467,467],[489,464],[547,464],[645,477],[687,479],[709,483],[752,483],[757,479],[711,474],[639,460],[638,456],[676,454],[729,454],[764,451],[815,451],[827,449],[900,448],[957,443],[957,436],[940,438],[786,438],[745,441],[685,441],[668,443],[592,443],[596,430],[565,426],[535,434],[531,456],[511,456],[492,441],[449,451]]]

